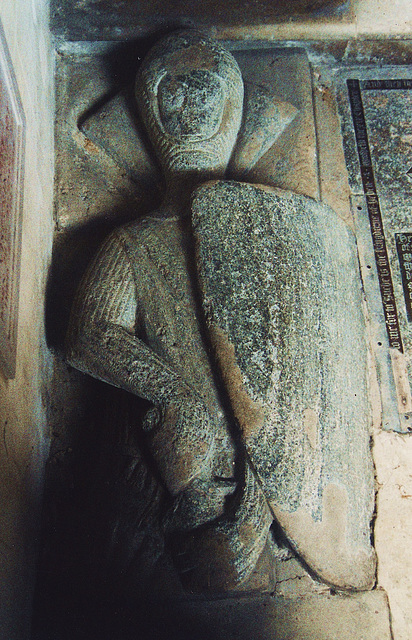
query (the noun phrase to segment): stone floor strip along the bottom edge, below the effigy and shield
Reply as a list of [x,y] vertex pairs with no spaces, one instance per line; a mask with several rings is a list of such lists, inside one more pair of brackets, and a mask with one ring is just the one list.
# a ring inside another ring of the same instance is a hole
[[146,603],[88,620],[73,616],[33,640],[391,640],[387,598],[376,590],[352,596]]

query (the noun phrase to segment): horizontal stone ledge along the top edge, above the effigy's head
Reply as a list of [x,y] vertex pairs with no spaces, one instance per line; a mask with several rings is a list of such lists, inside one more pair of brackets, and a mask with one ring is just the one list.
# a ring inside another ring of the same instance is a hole
[[[159,29],[197,26],[228,40],[345,39],[408,37],[409,0],[52,0],[51,24],[66,40],[124,40],[151,36]],[[309,17],[308,17],[309,14]]]

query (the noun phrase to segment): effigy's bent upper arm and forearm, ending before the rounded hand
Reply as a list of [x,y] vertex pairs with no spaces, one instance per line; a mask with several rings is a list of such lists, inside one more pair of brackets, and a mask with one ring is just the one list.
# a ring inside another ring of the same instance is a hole
[[112,234],[74,301],[66,360],[76,369],[156,405],[191,394],[188,384],[136,336],[138,300],[121,238]]

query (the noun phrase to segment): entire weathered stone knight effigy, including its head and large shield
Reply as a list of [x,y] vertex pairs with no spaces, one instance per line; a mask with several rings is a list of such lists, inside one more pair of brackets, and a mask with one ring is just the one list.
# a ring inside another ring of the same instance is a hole
[[[217,43],[190,31],[161,40],[136,98],[166,194],[101,247],[74,303],[67,359],[151,403],[141,428],[172,499],[165,535],[186,588],[242,585],[274,520],[314,576],[370,588],[351,233],[310,198],[223,180],[243,81]],[[261,138],[250,154],[265,149]]]

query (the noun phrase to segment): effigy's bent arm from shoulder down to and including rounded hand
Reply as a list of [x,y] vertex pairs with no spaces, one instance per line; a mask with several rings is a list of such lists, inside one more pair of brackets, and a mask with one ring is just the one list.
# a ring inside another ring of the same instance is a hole
[[136,335],[138,316],[136,283],[115,232],[78,290],[66,359],[76,369],[155,405],[143,426],[165,484],[176,495],[202,473],[214,432],[201,398]]

